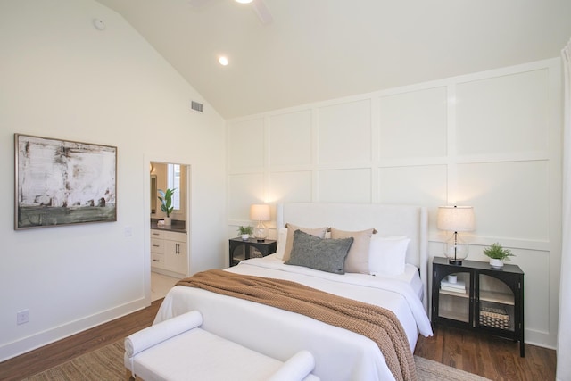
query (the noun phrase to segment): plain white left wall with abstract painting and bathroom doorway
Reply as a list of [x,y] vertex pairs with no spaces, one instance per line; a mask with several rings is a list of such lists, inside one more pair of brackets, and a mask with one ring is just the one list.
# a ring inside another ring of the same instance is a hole
[[[126,21],[91,0],[1,1],[0,52],[0,360],[150,302],[151,161],[191,166],[191,271],[222,267],[225,122]],[[15,231],[14,133],[117,146],[118,221]]]

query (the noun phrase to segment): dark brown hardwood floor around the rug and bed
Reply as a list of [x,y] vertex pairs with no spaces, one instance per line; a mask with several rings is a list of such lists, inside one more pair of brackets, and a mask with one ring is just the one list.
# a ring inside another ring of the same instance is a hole
[[[149,327],[161,302],[153,302],[144,310],[0,362],[0,380],[21,380]],[[510,340],[436,327],[433,337],[418,338],[415,354],[492,380],[555,379],[555,351],[526,344],[525,358],[520,358],[518,345]]]

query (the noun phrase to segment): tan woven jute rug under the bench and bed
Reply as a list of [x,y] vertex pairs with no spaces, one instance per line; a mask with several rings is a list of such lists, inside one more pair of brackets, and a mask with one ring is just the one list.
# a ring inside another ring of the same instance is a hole
[[[123,366],[123,341],[109,344],[103,348],[88,352],[73,360],[47,369],[26,381],[119,381],[125,379]],[[484,381],[463,370],[447,367],[432,360],[414,357],[417,364],[418,379],[423,381]],[[325,380],[324,380],[325,381]]]

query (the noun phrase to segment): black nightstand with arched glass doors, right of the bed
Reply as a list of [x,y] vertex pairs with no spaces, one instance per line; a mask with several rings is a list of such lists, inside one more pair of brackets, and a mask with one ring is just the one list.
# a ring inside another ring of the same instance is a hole
[[[434,257],[432,322],[434,325],[476,330],[519,342],[524,346],[524,272],[516,265],[494,269],[487,262],[452,265]],[[457,277],[456,283],[449,275]]]

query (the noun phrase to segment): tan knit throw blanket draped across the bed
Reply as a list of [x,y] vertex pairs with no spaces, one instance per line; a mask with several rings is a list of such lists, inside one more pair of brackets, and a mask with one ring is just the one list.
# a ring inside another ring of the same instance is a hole
[[383,352],[386,364],[397,380],[417,379],[409,342],[393,311],[288,280],[240,275],[219,269],[197,273],[180,280],[177,285],[267,304],[367,336]]

